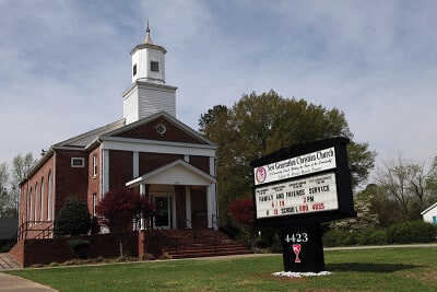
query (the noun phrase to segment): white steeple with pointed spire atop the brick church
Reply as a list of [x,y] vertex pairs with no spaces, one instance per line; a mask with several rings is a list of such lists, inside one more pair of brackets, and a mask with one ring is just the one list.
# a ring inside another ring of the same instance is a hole
[[149,20],[145,39],[131,50],[132,84],[123,93],[126,124],[165,110],[176,117],[175,86],[165,84],[165,54],[167,50],[153,44]]

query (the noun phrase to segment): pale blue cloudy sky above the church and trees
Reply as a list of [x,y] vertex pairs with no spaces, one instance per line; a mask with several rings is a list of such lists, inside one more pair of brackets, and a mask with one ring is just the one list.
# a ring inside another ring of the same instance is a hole
[[436,12],[426,0],[0,0],[0,162],[120,119],[149,17],[188,126],[273,89],[342,110],[377,163],[429,163]]

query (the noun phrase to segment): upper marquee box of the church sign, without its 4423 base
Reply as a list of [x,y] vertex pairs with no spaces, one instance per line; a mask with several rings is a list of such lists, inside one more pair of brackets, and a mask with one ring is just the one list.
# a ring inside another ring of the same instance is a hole
[[253,161],[258,223],[354,217],[346,138],[282,149]]

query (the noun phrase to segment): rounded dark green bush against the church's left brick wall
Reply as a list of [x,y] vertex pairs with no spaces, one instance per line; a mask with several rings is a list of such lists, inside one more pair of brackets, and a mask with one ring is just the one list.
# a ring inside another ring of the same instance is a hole
[[56,215],[55,236],[87,234],[90,229],[88,207],[76,197],[70,197]]

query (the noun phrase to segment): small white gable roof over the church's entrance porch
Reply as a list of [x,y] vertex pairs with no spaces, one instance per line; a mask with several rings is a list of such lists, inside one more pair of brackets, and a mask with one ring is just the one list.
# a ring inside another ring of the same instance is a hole
[[206,186],[214,183],[215,177],[184,160],[177,160],[126,183],[126,186],[135,187],[141,184]]

